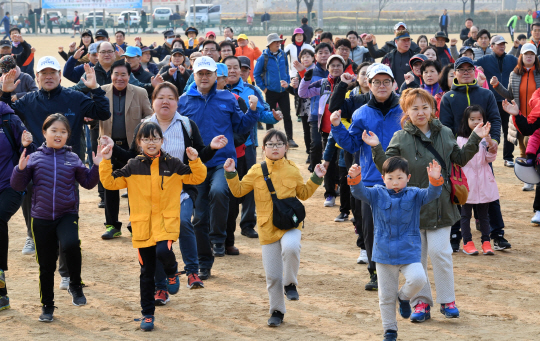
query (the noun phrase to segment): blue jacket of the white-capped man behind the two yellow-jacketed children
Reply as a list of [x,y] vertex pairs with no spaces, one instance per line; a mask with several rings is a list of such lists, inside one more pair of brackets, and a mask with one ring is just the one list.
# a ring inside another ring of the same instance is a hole
[[225,135],[229,140],[229,143],[206,163],[208,168],[223,165],[228,158],[236,161],[233,134],[249,133],[259,119],[259,113],[250,108],[244,114],[234,95],[227,90],[216,90],[216,86],[217,84],[214,84],[205,98],[197,90],[197,84],[193,83],[187,93],[178,100],[177,110],[180,115],[190,118],[201,127],[205,145],[209,145],[218,135]]

